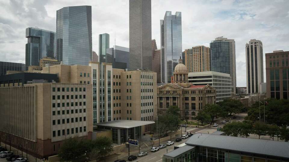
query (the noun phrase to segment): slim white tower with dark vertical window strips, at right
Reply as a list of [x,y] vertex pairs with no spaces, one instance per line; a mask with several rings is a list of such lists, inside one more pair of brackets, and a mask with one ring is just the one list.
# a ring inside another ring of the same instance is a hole
[[260,93],[260,83],[264,82],[263,44],[251,39],[246,43],[247,94]]

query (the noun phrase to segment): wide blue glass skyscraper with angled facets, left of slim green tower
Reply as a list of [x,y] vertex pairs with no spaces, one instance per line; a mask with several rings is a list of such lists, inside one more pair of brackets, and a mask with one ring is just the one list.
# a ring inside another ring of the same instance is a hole
[[88,65],[92,60],[91,6],[63,7],[56,19],[56,59],[67,65]]

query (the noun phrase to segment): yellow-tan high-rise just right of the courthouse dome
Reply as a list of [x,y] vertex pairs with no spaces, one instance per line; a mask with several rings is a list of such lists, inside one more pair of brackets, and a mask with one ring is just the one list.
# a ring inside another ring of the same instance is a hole
[[185,49],[185,65],[188,72],[203,72],[211,69],[211,49],[206,46],[194,46]]

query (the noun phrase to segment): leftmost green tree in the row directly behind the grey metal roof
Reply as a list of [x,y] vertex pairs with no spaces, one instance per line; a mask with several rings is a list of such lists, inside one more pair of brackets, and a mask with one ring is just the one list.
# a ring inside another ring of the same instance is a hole
[[224,125],[222,131],[228,136],[238,137],[242,133],[242,123],[241,122],[232,122]]

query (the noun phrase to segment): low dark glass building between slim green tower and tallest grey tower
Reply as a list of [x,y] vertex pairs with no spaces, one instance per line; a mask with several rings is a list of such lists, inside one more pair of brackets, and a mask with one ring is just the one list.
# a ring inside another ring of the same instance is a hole
[[112,68],[129,69],[129,48],[122,46],[107,48],[106,61],[112,63]]

